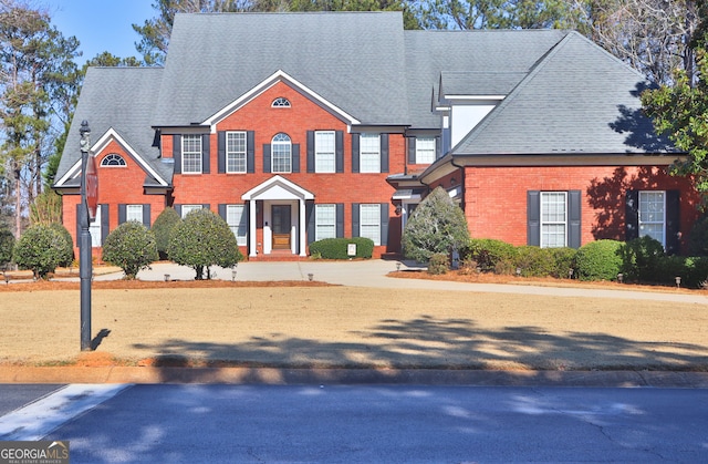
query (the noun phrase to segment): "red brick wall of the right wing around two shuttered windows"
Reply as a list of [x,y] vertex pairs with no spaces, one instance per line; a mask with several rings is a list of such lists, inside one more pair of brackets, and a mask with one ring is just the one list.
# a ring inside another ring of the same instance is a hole
[[465,215],[471,236],[517,246],[527,243],[528,190],[581,190],[582,244],[602,238],[624,240],[628,189],[680,189],[684,239],[698,217],[698,196],[688,179],[669,176],[658,167],[467,167],[465,187]]

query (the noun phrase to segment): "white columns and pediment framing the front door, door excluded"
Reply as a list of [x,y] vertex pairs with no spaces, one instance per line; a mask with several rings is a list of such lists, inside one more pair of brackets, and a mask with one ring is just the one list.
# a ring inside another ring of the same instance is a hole
[[257,202],[262,202],[263,210],[263,254],[270,255],[272,251],[272,217],[273,205],[290,205],[291,208],[291,251],[293,255],[305,256],[306,248],[306,223],[305,223],[305,200],[314,199],[311,192],[288,181],[282,176],[273,176],[268,181],[257,185],[241,196],[241,199],[249,202],[250,217],[248,221],[249,256],[258,255],[258,244],[256,240],[256,218]]

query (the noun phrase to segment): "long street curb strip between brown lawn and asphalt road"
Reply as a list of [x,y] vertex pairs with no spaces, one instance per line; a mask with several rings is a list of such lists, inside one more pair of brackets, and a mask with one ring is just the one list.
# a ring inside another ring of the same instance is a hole
[[0,383],[425,384],[708,389],[708,372],[2,367]]

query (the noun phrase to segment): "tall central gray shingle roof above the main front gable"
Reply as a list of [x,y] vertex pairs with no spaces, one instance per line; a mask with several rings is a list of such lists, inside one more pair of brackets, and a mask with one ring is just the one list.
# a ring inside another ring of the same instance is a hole
[[281,70],[366,124],[406,120],[403,19],[177,14],[155,125],[200,123]]

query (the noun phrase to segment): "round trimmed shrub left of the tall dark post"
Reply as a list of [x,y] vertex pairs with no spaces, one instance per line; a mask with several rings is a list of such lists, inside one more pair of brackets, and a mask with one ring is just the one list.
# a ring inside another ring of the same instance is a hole
[[55,227],[38,224],[28,228],[15,243],[13,260],[20,269],[31,269],[37,279],[46,279],[50,272],[65,261],[72,250],[71,241]]

